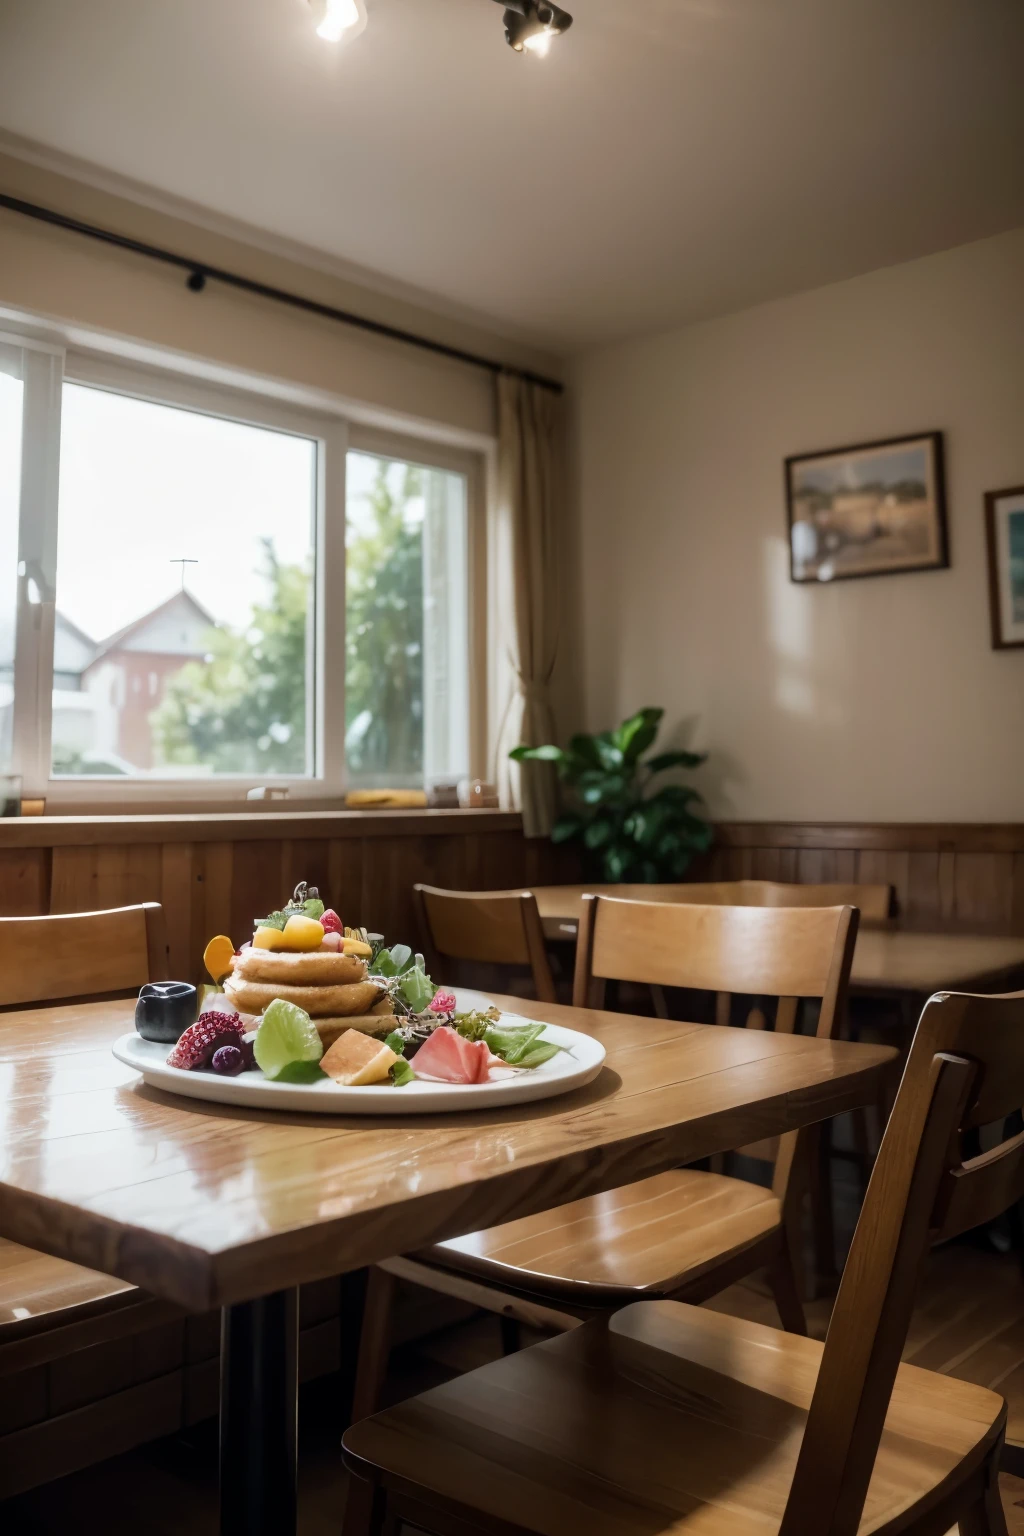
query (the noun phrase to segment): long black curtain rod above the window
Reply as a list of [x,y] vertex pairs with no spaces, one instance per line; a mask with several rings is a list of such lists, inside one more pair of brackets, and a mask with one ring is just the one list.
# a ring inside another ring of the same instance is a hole
[[83,220],[71,218],[68,214],[57,214],[54,209],[41,207],[38,203],[26,203],[21,198],[0,192],[0,207],[25,218],[37,218],[43,224],[54,224],[57,229],[69,229],[75,235],[86,235],[89,240],[100,240],[106,246],[118,246],[121,250],[132,250],[137,257],[147,257],[150,261],[163,261],[164,266],[178,267],[187,272],[187,287],[193,293],[201,293],[209,280],[224,283],[226,287],[241,289],[244,293],[255,293],[258,298],[272,300],[275,304],[289,304],[292,309],[306,310],[309,315],[319,315],[322,319],[335,319],[342,326],[355,326],[368,330],[375,336],[387,336],[388,341],[402,341],[408,347],[419,347],[422,352],[433,352],[441,358],[451,358],[454,362],[468,362],[474,369],[487,369],[488,373],[513,373],[516,378],[550,389],[560,395],[563,386],[557,379],[545,378],[542,373],[531,373],[530,369],[516,369],[493,358],[484,358],[476,352],[465,352],[462,347],[450,347],[444,341],[430,341],[418,336],[413,330],[402,330],[399,326],[387,326],[379,319],[367,319],[365,315],[355,315],[347,309],[336,309],[333,304],[319,304],[313,298],[302,298],[301,293],[290,293],[287,289],[272,287],[269,283],[256,283],[244,278],[238,272],[227,272],[224,267],[212,267],[207,261],[195,261],[190,257],[180,257],[173,250],[161,246],[149,246],[143,240],[132,240],[129,235],[117,235],[114,230],[100,229],[98,224],[86,224]]

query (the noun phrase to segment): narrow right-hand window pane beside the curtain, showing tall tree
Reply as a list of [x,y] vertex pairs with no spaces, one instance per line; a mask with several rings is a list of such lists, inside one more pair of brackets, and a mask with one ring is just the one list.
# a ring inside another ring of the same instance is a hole
[[345,547],[348,782],[416,788],[464,777],[465,475],[350,453]]

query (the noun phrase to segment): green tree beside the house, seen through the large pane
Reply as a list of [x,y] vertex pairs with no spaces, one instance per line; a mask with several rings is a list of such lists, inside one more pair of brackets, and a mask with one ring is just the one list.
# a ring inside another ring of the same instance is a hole
[[215,628],[209,660],[186,662],[150,716],[158,762],[215,773],[306,771],[309,574],[264,539],[267,601],[243,634]]

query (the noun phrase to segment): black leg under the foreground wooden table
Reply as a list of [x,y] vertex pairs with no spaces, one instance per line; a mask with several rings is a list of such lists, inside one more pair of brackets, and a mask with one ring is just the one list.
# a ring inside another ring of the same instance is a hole
[[295,1536],[298,1290],[221,1313],[221,1536]]

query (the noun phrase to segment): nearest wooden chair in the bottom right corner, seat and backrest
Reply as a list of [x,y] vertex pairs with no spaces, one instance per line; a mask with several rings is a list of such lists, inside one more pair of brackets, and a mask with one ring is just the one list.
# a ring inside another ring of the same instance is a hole
[[470,1372],[347,1432],[375,1536],[1006,1536],[1006,1402],[900,1355],[929,1240],[1024,1195],[1024,1134],[961,1152],[1022,1032],[1024,994],[926,1005],[824,1344],[660,1301]]

